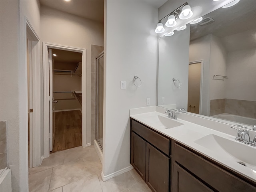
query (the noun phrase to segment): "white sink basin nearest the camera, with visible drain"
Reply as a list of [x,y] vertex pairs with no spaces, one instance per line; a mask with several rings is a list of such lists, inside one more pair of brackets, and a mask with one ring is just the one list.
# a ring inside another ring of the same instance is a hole
[[225,139],[214,134],[206,135],[194,141],[194,143],[218,154],[223,154],[225,158],[229,158],[228,156],[230,156],[236,162],[244,162],[246,166],[256,170],[256,148],[252,146],[247,146],[238,141]]

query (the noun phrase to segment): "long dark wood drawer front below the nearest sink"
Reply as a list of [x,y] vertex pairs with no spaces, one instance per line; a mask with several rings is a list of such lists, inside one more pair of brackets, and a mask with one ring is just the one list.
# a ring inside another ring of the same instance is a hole
[[174,160],[221,192],[256,192],[256,187],[222,170],[186,148],[174,144]]

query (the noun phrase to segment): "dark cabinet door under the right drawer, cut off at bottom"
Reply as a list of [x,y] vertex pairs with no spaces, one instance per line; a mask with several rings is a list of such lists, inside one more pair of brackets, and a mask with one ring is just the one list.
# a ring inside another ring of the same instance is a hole
[[210,188],[173,163],[173,192],[213,192]]

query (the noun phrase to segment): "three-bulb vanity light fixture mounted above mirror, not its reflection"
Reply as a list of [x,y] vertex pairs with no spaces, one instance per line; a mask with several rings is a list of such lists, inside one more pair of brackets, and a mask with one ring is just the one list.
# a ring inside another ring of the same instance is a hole
[[[182,8],[182,10],[180,10]],[[167,18],[167,22],[165,23],[166,27],[174,27],[177,24],[177,19],[180,18],[182,20],[188,19],[192,17],[193,12],[191,11],[190,5],[188,2],[182,4],[180,7],[178,7],[173,12],[170,12],[168,15],[166,15],[164,18],[160,19],[157,26],[156,26],[156,33],[162,33],[164,32],[164,26],[162,24],[162,20]],[[184,28],[185,29],[185,28]]]

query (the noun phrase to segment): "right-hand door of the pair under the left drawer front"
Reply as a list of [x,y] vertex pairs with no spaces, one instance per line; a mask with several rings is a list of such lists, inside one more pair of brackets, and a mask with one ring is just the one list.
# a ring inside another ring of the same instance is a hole
[[170,158],[147,143],[146,183],[154,192],[169,192]]

